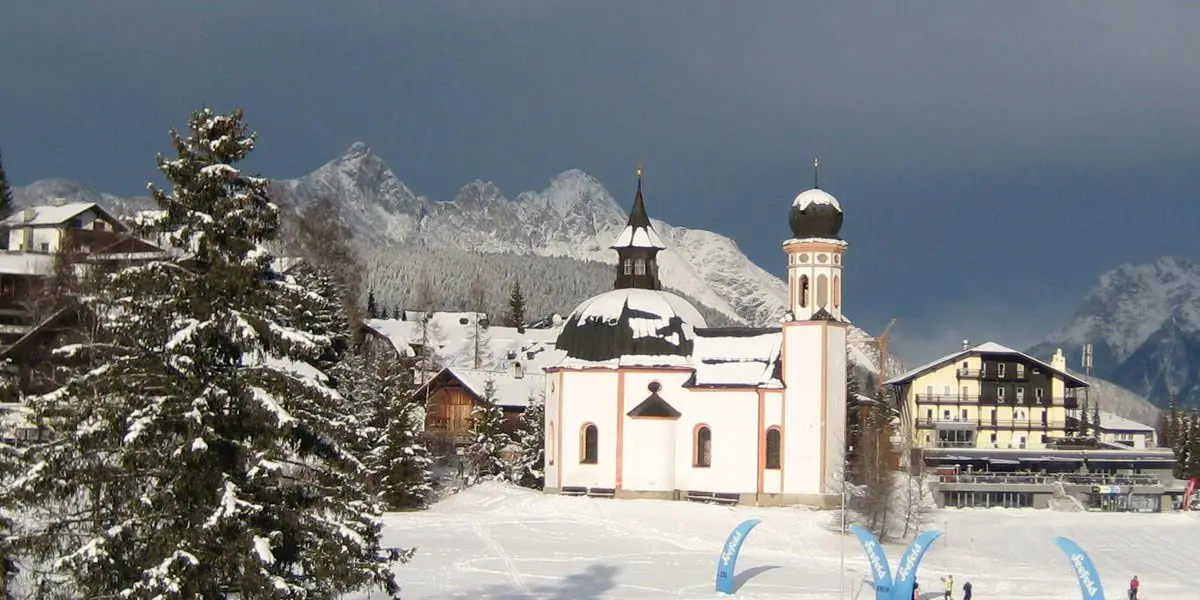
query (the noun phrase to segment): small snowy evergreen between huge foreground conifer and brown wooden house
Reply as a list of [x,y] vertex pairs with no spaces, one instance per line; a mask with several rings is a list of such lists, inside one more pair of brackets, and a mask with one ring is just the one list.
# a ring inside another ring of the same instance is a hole
[[421,443],[425,410],[406,361],[353,355],[338,370],[338,391],[359,424],[359,444],[372,490],[389,510],[425,508],[432,460]]

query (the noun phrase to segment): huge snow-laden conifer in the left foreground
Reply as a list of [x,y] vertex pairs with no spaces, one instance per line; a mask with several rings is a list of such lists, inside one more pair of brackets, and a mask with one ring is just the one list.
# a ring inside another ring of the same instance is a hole
[[31,398],[54,438],[13,490],[23,536],[76,598],[298,599],[378,587],[396,596],[380,511],[347,439],[341,398],[300,361],[329,340],[289,326],[298,290],[262,250],[278,226],[241,113],[198,110],[150,186],[186,257],[124,268],[82,299],[94,361]]

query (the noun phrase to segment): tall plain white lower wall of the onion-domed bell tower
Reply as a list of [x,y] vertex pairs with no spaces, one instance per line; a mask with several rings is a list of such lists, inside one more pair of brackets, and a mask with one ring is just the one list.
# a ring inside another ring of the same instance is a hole
[[821,493],[824,322],[784,325],[784,493]]

